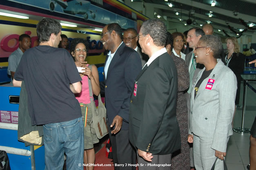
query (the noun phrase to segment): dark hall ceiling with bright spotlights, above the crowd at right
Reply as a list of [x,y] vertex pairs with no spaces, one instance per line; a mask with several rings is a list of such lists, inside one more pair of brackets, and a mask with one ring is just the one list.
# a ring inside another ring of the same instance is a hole
[[[190,18],[192,26],[200,26],[210,21],[214,26],[214,32],[219,30],[223,35],[225,33],[230,36],[240,34],[242,31],[240,29],[245,30],[242,35],[256,34],[256,0],[214,1],[216,4],[212,7],[213,0],[133,0],[133,2],[154,4],[155,17],[166,16],[168,21],[185,24]],[[169,3],[172,7],[168,6]],[[178,15],[176,15],[177,12]],[[254,26],[249,27],[249,24]]]

